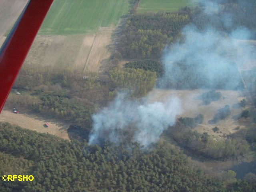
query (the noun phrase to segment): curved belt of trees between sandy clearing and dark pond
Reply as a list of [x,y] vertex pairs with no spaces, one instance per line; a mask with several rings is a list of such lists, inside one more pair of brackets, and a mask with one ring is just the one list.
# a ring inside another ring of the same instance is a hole
[[238,158],[253,149],[252,146],[255,142],[254,127],[243,130],[243,132],[246,132],[246,136],[240,133],[216,141],[210,137],[208,132],[201,134],[193,129],[196,122],[201,119],[199,116],[196,118],[178,118],[176,125],[170,127],[166,133],[181,146],[212,159]]

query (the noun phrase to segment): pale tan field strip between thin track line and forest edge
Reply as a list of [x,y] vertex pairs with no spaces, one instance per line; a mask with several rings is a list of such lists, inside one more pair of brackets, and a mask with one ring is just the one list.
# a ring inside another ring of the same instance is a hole
[[[114,28],[112,28],[114,30]],[[84,72],[101,72],[102,66],[110,57],[107,45],[110,44],[112,30],[99,31],[96,35],[92,49],[84,66]]]

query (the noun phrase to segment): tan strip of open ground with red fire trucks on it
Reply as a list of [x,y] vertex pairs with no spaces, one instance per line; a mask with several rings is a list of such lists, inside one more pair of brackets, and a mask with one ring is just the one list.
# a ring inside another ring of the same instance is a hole
[[[25,129],[35,130],[39,133],[49,133],[69,140],[67,132],[69,127],[68,124],[56,122],[51,119],[43,119],[36,115],[22,114],[22,112],[15,114],[11,110],[2,110],[0,114],[0,122],[9,122],[10,124],[18,125]],[[45,128],[45,122],[48,122],[50,127]]]

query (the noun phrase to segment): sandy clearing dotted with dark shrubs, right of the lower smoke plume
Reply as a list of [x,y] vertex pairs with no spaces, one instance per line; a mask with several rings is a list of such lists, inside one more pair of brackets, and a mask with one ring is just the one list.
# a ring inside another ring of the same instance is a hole
[[[244,108],[235,108],[234,105],[240,102],[244,97],[244,92],[238,92],[233,90],[216,90],[221,93],[221,98],[218,101],[211,102],[209,105],[204,105],[202,100],[198,97],[204,92],[209,90],[161,90],[154,89],[150,92],[150,102],[160,101],[164,102],[168,98],[178,97],[181,101],[181,107],[183,117],[196,117],[198,114],[204,115],[204,122],[195,128],[200,133],[208,132],[209,135],[220,138],[224,134],[232,134],[236,132],[235,128],[240,126],[244,128],[246,121],[234,120],[233,117],[240,114]],[[208,124],[209,120],[212,120],[217,110],[223,108],[225,105],[229,105],[231,114],[228,118],[220,120],[216,124]],[[219,132],[213,132],[212,128],[218,126]],[[220,133],[222,132],[222,133]]]

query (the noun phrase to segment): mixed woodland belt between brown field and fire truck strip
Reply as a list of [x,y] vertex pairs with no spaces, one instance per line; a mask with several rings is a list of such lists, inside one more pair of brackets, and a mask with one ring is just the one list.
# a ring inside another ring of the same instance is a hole
[[90,128],[91,115],[106,106],[118,91],[136,98],[152,90],[156,82],[156,72],[140,68],[114,69],[109,74],[109,79],[102,81],[52,66],[22,68],[14,84],[22,94],[10,94],[7,105]]

